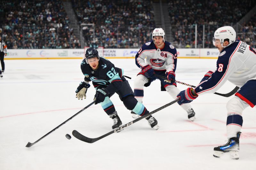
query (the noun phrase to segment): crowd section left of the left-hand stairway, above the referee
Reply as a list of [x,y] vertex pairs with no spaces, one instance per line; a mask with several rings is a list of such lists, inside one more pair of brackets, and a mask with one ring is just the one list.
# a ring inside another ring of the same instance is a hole
[[8,48],[81,48],[62,1],[4,1],[0,12]]

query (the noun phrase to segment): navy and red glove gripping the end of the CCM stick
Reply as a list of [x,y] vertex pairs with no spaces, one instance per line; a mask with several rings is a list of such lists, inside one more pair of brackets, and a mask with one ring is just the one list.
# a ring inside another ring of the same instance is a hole
[[191,101],[195,100],[198,97],[198,95],[196,94],[193,88],[188,87],[186,90],[181,91],[177,95],[177,97],[180,97],[178,104],[181,105],[184,103],[190,103]]

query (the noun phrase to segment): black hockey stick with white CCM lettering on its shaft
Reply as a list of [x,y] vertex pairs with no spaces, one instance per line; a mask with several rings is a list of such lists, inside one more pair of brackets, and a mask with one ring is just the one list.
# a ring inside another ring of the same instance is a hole
[[135,119],[134,121],[129,122],[129,123],[127,123],[127,124],[125,124],[125,125],[123,125],[123,126],[121,126],[119,128],[116,128],[116,129],[114,129],[114,130],[112,130],[112,131],[110,131],[110,132],[108,132],[105,135],[102,135],[100,137],[96,137],[96,138],[86,137],[86,136],[82,135],[81,133],[79,133],[76,130],[73,130],[72,135],[74,137],[76,137],[77,139],[81,140],[81,141],[84,141],[84,142],[87,142],[87,143],[93,143],[93,142],[96,142],[96,141],[98,141],[98,140],[100,140],[100,139],[102,139],[104,137],[107,137],[108,135],[111,135],[112,133],[119,132],[119,131],[123,130],[125,127],[130,126],[131,124],[133,124],[135,122],[138,122],[141,119],[144,119],[144,118],[148,117],[149,115],[152,115],[152,114],[154,114],[154,113],[164,109],[165,107],[168,107],[168,106],[172,105],[173,103],[176,103],[179,100],[180,100],[180,98],[178,97],[177,99],[173,100],[172,102],[170,102],[170,103],[168,103],[168,104],[166,104],[166,105],[164,105],[162,107],[157,108],[156,110],[148,113],[147,115],[141,116],[138,119]]

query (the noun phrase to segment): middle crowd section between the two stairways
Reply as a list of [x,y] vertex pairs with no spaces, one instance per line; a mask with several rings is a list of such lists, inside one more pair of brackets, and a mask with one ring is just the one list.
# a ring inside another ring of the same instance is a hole
[[82,24],[85,46],[140,48],[151,39],[155,22],[150,1],[72,0],[72,4]]

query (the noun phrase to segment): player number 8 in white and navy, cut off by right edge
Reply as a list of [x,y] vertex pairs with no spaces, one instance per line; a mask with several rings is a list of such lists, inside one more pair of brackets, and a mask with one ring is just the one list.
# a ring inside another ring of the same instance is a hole
[[198,95],[216,92],[227,80],[240,87],[227,103],[228,142],[215,147],[213,156],[230,153],[232,159],[239,159],[239,137],[243,125],[243,110],[256,105],[256,50],[243,41],[236,40],[236,32],[231,26],[218,28],[213,37],[213,45],[219,49],[215,72],[208,71],[195,89],[188,88],[178,96],[178,103],[189,103]]

